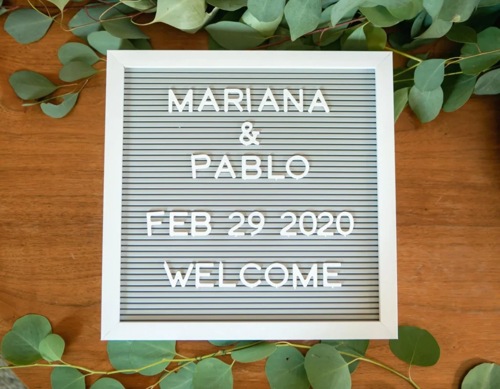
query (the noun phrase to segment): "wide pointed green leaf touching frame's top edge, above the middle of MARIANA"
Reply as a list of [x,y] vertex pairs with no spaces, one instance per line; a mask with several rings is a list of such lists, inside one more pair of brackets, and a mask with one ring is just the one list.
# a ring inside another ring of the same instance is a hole
[[257,30],[239,22],[218,22],[205,27],[215,42],[227,50],[245,50],[266,40]]

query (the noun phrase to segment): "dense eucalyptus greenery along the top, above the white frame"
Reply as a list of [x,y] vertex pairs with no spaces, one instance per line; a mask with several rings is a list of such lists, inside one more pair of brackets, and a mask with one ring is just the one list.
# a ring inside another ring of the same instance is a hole
[[[151,23],[188,33],[204,27],[211,50],[390,50],[409,60],[394,70],[394,120],[407,105],[428,122],[472,94],[500,93],[500,29],[494,27],[500,0],[97,0],[70,7],[69,0],[46,0],[54,6],[44,1],[40,7],[30,0],[29,8],[4,5],[0,15],[8,14],[4,29],[21,44],[40,40],[53,23],[83,42],[59,50],[67,54],[59,78],[81,80],[77,84],[55,86],[29,71],[10,77],[16,94],[28,101],[23,105],[39,104],[55,118],[73,108],[98,73],[94,64],[104,59],[94,50],[104,56],[107,50],[150,50],[139,26]],[[64,10],[75,8],[66,24]],[[443,37],[462,44],[454,57],[407,53]],[[74,88],[53,94],[63,87]],[[56,98],[62,102],[49,102]]]

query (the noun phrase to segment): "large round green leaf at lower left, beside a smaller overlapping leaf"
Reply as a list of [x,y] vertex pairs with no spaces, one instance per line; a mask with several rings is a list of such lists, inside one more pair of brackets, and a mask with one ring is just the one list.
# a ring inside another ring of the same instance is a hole
[[22,316],[3,336],[0,353],[5,360],[15,365],[36,362],[41,359],[38,351],[40,341],[51,332],[52,327],[44,316]]

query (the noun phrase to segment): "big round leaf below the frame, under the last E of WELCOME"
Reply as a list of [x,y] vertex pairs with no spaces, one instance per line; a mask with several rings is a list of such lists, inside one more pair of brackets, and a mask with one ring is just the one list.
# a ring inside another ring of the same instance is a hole
[[350,389],[350,372],[342,355],[325,343],[314,344],[305,354],[305,371],[314,389]]

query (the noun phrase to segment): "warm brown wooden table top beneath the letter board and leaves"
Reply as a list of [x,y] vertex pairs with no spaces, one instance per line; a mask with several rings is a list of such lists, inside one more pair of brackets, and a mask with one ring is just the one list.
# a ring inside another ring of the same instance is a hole
[[[161,24],[145,31],[155,49],[207,47],[204,33]],[[104,72],[59,120],[21,107],[7,82],[29,69],[57,83],[56,52],[69,41],[78,39],[55,24],[27,46],[0,31],[0,334],[24,314],[43,314],[65,339],[67,362],[112,369],[99,340]],[[435,366],[412,368],[422,389],[458,388],[471,366],[500,362],[499,102],[473,97],[424,125],[405,110],[396,124],[399,323],[429,330],[441,347]],[[371,342],[367,355],[405,372],[387,343]],[[177,343],[187,356],[214,349]],[[49,387],[49,368],[16,374],[30,389]],[[268,387],[263,361],[236,363],[233,375],[236,389]],[[118,378],[130,389],[154,382]],[[352,381],[354,388],[410,387],[363,362]]]

